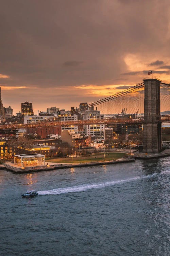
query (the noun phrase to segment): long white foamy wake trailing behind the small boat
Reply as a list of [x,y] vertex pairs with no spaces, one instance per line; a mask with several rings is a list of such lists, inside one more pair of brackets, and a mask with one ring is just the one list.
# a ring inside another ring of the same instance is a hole
[[139,180],[139,179],[145,179],[145,178],[151,177],[153,175],[155,175],[155,173],[151,174],[151,175],[135,177],[135,178],[127,179],[127,180],[84,184],[84,185],[79,185],[79,186],[55,188],[52,190],[43,190],[43,191],[37,191],[37,192],[38,192],[39,196],[41,196],[41,195],[60,195],[60,194],[64,194],[64,193],[82,192],[82,191],[85,191],[88,189],[103,188],[103,187],[113,186],[113,185],[119,184],[119,183],[130,182],[130,181],[135,181],[135,180]]

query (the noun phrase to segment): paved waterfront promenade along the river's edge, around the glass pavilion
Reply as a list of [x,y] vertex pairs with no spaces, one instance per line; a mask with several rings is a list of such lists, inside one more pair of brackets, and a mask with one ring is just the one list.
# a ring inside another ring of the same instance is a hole
[[45,165],[33,166],[33,167],[19,167],[11,162],[4,162],[0,165],[0,169],[7,169],[14,173],[30,173],[30,172],[40,172],[40,171],[52,171],[56,169],[65,168],[76,168],[76,167],[89,167],[97,165],[115,165],[117,163],[133,162],[135,158],[119,158],[111,161],[94,161],[94,162],[83,162],[83,163],[53,163],[45,162]]

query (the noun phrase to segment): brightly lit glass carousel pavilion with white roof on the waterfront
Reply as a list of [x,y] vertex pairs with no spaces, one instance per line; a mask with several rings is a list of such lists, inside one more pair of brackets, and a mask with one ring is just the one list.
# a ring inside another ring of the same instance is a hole
[[14,164],[21,167],[45,165],[45,156],[40,154],[14,155]]

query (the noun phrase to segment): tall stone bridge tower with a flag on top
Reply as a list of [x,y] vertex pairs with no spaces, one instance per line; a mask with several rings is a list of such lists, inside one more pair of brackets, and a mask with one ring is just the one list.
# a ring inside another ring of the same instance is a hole
[[143,79],[145,84],[143,153],[158,153],[162,148],[160,121],[160,83],[158,79]]

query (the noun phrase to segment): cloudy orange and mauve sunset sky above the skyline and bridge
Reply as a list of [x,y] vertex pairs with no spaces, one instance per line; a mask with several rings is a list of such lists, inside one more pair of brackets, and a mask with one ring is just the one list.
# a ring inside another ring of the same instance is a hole
[[153,77],[170,83],[169,0],[1,0],[2,103],[70,110]]

